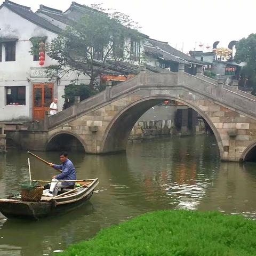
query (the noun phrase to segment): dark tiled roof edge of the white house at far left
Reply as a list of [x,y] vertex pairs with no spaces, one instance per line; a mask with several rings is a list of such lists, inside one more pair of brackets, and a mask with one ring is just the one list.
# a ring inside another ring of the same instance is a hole
[[57,34],[61,33],[60,28],[52,25],[49,21],[46,21],[45,19],[36,15],[33,11],[30,10],[30,7],[23,6],[23,5],[20,5],[20,4],[16,4],[16,3],[13,3],[9,0],[5,0],[5,2],[0,6],[0,9],[3,6],[7,7],[11,11],[17,13],[22,18],[25,18],[25,19],[33,22],[34,24],[42,27],[42,28],[50,30],[53,33],[57,33]]

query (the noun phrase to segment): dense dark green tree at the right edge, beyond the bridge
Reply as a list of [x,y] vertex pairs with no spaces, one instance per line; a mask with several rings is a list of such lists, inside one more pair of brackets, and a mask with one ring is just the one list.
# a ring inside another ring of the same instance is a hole
[[248,79],[247,84],[252,85],[252,94],[256,92],[256,34],[242,38],[236,44],[235,61],[245,62],[241,74]]

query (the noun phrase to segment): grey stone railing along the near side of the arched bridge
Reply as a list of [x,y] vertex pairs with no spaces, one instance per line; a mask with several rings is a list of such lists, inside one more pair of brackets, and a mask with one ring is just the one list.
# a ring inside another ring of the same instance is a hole
[[114,87],[107,87],[105,91],[60,111],[57,115],[51,116],[49,118],[48,127],[51,128],[59,125],[72,117],[74,118],[85,111],[90,111],[92,108],[102,105],[102,103],[107,103],[110,100],[114,100],[125,93],[131,93],[133,90],[138,90],[141,87],[151,86],[163,88],[180,85],[255,116],[256,97],[234,87],[220,82],[218,83],[214,79],[208,79],[202,75],[194,76],[182,71],[157,74],[141,72],[138,76],[126,82]]

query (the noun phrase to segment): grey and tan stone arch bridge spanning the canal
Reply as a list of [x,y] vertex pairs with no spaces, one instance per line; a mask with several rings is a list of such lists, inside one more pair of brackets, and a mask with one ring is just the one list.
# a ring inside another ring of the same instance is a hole
[[[20,133],[30,150],[46,150],[54,139],[76,137],[86,153],[125,150],[138,118],[170,99],[196,110],[210,125],[224,161],[244,160],[256,145],[256,97],[237,87],[184,72],[146,73],[77,103]],[[65,137],[66,136],[66,137]],[[66,139],[67,140],[66,140]],[[52,149],[52,148],[50,148]]]

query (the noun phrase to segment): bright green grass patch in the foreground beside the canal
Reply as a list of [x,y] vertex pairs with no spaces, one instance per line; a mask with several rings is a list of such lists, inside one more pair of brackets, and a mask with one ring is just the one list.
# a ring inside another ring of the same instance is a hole
[[256,221],[219,212],[146,213],[103,229],[59,256],[252,256]]

